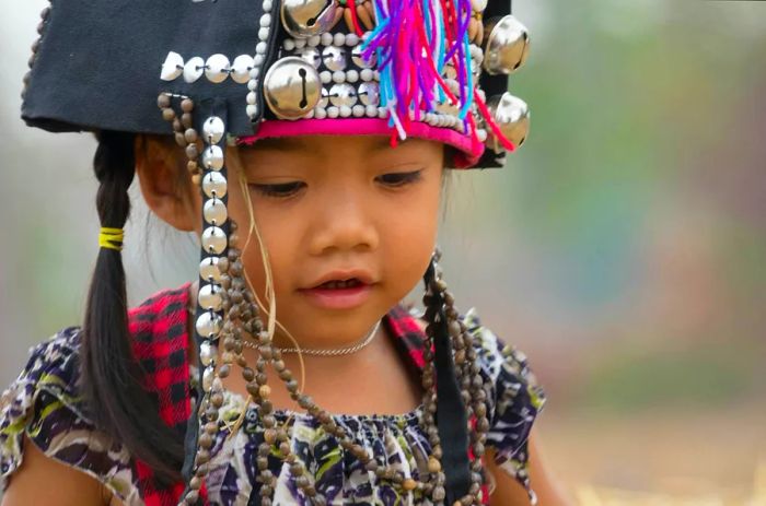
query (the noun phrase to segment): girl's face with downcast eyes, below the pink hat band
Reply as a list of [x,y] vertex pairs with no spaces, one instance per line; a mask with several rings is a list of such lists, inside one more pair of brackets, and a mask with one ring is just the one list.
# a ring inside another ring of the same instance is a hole
[[[426,271],[437,236],[441,144],[410,139],[392,149],[384,137],[285,138],[230,148],[227,164],[239,247],[252,205],[277,319],[302,344],[359,339]],[[263,301],[255,234],[243,262]]]

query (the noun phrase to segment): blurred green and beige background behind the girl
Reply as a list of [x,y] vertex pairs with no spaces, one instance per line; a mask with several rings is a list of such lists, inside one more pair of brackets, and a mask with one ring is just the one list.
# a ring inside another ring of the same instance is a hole
[[[766,2],[514,3],[532,132],[504,170],[452,178],[446,280],[530,355],[572,491],[745,497],[766,461]],[[79,322],[97,248],[92,138],[19,119],[45,4],[0,31],[2,385]],[[192,279],[196,247],[134,196],[139,302]]]

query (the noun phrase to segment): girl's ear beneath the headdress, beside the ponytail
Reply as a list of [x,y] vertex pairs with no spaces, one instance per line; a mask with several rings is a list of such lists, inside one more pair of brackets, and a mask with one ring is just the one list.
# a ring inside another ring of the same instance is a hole
[[186,158],[172,138],[136,136],[136,174],[149,209],[184,232],[199,232],[201,196],[186,170]]

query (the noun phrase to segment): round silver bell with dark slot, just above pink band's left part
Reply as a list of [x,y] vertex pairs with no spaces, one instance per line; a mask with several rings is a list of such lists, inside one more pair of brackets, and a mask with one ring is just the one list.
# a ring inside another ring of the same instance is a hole
[[264,79],[266,104],[280,119],[300,119],[322,97],[322,81],[313,64],[289,56],[271,66]]

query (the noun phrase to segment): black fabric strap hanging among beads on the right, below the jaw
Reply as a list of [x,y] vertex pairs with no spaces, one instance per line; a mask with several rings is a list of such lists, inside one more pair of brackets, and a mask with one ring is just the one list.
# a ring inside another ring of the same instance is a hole
[[[433,262],[426,271],[425,280],[436,279]],[[468,420],[457,386],[455,365],[450,346],[450,334],[444,315],[444,301],[433,291],[439,310],[433,336],[434,365],[437,369],[437,426],[442,447],[441,464],[444,470],[445,504],[453,504],[468,493],[471,487],[471,461],[468,460]]]

